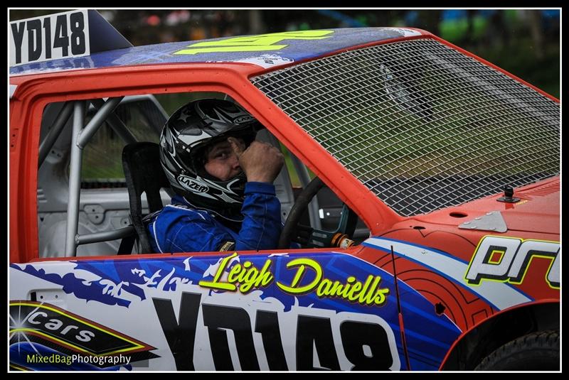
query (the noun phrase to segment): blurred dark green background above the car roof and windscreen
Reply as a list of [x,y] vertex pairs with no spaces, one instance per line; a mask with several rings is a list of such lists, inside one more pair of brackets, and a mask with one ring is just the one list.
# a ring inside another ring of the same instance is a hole
[[[69,9],[9,9],[9,20]],[[422,28],[560,95],[560,9],[97,9],[133,45],[320,28]],[[171,112],[172,110],[166,109]]]

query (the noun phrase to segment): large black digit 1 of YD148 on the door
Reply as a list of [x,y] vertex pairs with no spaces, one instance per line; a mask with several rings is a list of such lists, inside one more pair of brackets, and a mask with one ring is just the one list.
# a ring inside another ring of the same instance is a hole
[[271,371],[288,371],[285,351],[280,338],[279,318],[273,311],[257,310],[255,332],[262,336],[262,346],[267,354],[267,362]]

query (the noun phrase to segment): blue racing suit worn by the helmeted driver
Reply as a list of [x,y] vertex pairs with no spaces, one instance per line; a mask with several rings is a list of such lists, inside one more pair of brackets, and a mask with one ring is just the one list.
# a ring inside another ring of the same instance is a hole
[[[276,249],[282,229],[280,202],[272,183],[245,183],[239,231],[227,227],[219,215],[196,210],[176,195],[151,217],[148,230],[155,252],[207,252]],[[235,243],[235,244],[233,244]]]

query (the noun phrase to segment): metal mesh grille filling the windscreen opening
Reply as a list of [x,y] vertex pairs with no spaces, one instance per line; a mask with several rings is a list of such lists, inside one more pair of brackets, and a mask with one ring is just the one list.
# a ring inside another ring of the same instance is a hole
[[252,83],[400,215],[559,173],[558,103],[436,40],[340,53]]

